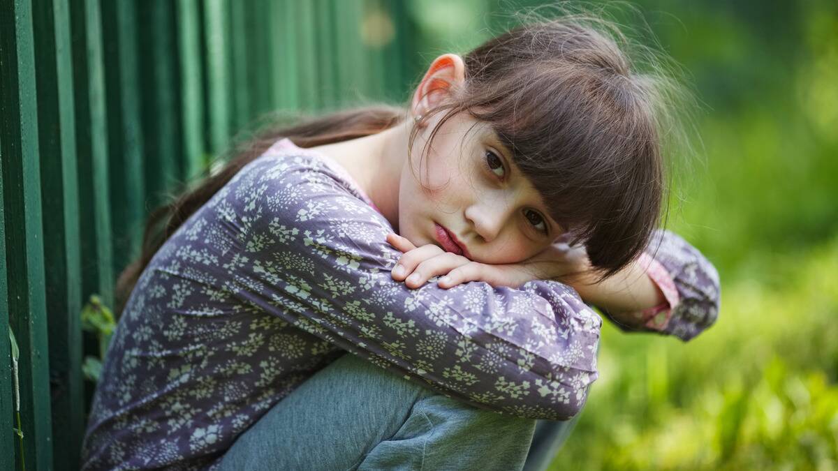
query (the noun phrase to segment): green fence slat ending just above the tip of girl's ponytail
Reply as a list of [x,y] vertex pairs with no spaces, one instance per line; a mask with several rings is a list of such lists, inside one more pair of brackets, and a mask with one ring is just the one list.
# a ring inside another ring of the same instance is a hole
[[145,216],[142,115],[137,75],[137,9],[131,1],[102,2],[108,172],[113,227],[113,270],[137,250]]

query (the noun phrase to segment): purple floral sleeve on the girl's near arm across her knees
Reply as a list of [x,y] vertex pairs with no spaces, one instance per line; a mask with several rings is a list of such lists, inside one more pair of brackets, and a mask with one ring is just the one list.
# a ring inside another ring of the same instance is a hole
[[384,217],[323,160],[266,154],[216,210],[247,260],[236,296],[447,396],[519,417],[567,419],[597,378],[602,320],[571,287],[469,282],[410,289]]

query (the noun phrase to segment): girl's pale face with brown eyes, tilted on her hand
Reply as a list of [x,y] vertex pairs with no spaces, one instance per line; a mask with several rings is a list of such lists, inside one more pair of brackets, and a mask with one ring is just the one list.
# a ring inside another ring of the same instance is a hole
[[556,241],[564,230],[485,123],[467,113],[452,116],[422,158],[441,116],[427,120],[411,148],[411,162],[402,168],[400,234],[416,246],[445,249],[440,225],[464,246],[463,256],[490,264],[523,261]]

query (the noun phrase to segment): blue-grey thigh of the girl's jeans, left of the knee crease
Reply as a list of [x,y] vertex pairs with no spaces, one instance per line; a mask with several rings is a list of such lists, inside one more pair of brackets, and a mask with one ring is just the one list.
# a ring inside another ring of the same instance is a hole
[[352,469],[392,437],[427,390],[343,355],[242,432],[220,469]]

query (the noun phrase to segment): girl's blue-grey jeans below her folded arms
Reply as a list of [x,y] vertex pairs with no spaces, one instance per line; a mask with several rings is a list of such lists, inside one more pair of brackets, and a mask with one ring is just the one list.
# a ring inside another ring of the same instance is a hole
[[220,468],[535,471],[547,467],[576,417],[484,411],[349,354],[242,433]]

